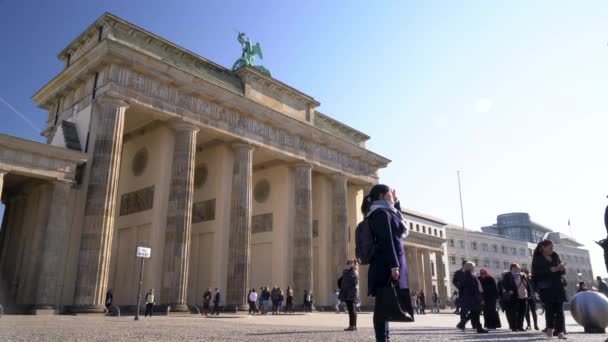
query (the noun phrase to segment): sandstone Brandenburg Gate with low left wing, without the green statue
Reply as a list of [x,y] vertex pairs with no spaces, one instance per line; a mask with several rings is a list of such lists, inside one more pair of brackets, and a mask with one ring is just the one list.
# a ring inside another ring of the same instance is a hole
[[110,14],[59,58],[33,97],[48,144],[0,135],[5,307],[100,312],[109,290],[133,305],[137,246],[152,249],[143,287],[173,311],[208,287],[233,308],[262,285],[332,303],[363,193],[390,162],[367,135]]

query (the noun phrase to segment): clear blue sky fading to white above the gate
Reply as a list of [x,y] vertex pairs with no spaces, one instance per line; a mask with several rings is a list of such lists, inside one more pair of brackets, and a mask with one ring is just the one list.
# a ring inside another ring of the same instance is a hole
[[461,225],[460,171],[467,228],[527,212],[606,276],[608,2],[0,0],[0,133],[42,141],[31,96],[104,12],[228,68],[246,32],[273,77],[371,136],[406,207]]

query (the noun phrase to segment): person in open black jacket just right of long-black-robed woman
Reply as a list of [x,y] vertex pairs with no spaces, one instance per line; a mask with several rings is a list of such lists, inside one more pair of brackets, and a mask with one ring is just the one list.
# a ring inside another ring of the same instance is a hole
[[528,307],[530,283],[526,275],[521,273],[518,263],[512,263],[510,270],[502,279],[507,320],[511,331],[525,331],[524,318]]

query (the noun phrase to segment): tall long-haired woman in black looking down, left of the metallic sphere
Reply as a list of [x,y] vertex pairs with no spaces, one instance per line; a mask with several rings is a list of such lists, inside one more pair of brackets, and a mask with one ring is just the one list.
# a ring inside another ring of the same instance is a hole
[[566,266],[553,251],[553,242],[539,242],[532,257],[532,276],[536,279],[537,290],[545,306],[548,337],[552,337],[555,331],[560,339],[566,339],[563,307],[566,290],[562,279],[565,273]]

